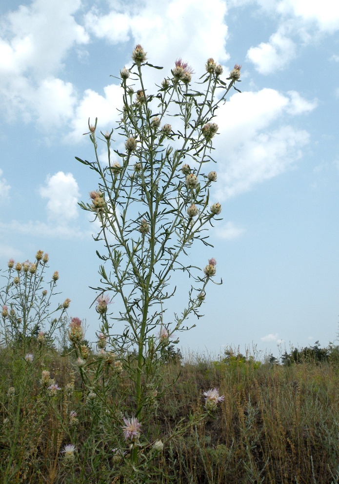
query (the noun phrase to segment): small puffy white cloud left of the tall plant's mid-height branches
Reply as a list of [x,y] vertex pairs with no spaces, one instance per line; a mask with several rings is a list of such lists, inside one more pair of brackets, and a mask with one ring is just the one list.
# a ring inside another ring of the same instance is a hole
[[39,193],[42,198],[48,199],[48,221],[65,226],[77,219],[80,194],[72,173],[59,171],[52,177],[48,176],[45,183],[45,186],[40,187]]

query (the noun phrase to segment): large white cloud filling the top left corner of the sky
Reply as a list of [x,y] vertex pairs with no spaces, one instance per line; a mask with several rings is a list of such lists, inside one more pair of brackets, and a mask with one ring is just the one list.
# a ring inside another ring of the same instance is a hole
[[10,117],[49,128],[73,115],[76,93],[56,77],[70,49],[89,36],[74,14],[81,0],[35,0],[7,13],[0,24],[0,98]]

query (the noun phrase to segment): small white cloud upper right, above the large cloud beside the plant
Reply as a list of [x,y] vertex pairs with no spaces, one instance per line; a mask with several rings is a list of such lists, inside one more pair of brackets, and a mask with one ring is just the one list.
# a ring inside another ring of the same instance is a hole
[[260,74],[271,74],[283,69],[296,56],[296,44],[278,31],[271,35],[268,42],[247,51],[247,59],[255,64]]

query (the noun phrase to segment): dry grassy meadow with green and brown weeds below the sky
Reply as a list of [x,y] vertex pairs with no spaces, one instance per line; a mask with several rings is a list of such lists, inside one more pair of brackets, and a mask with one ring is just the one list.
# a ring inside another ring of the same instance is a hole
[[[25,359],[3,346],[1,483],[338,482],[338,347],[323,350],[322,362],[312,352],[306,356],[299,352],[297,363],[291,353],[285,355],[284,364],[273,358],[259,362],[232,351],[215,361],[199,355],[185,361],[173,348],[163,355],[167,363],[162,366],[161,384],[176,382],[157,397],[141,422],[148,441],[160,435],[165,442],[154,455],[162,477],[153,480],[150,475],[139,481],[128,477],[133,466],[128,445],[113,448],[112,429],[117,427],[111,418],[120,420],[122,427],[124,409],[134,404],[130,395],[135,384],[123,369],[117,372],[116,362],[102,361],[105,378],[115,379],[116,385],[103,402],[98,392],[89,394],[74,358],[62,356],[64,350],[36,342],[29,353],[34,358]],[[133,365],[135,355],[128,358]],[[86,364],[96,359],[91,351]],[[55,381],[56,387],[44,384],[42,371],[50,372],[48,383]],[[105,384],[103,379],[98,383]],[[178,422],[184,425],[203,413],[202,392],[212,387],[224,396],[217,411],[166,441]],[[65,446],[71,443],[74,450],[67,452]],[[140,451],[147,453],[148,448]]]

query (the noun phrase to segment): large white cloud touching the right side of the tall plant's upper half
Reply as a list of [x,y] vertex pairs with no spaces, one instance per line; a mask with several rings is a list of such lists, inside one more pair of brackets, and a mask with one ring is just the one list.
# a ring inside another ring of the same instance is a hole
[[283,173],[302,156],[309,134],[289,124],[273,128],[273,123],[286,114],[308,112],[315,105],[295,92],[287,97],[274,89],[262,89],[235,94],[220,107],[217,121],[221,134],[214,143],[217,152],[223,153],[219,202]]

